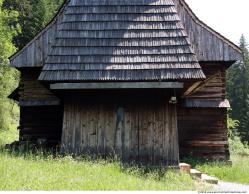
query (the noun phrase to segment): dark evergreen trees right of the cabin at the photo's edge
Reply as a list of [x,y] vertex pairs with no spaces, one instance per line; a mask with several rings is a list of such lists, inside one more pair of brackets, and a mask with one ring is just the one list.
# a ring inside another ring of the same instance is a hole
[[227,73],[227,96],[231,103],[231,118],[238,120],[242,141],[249,142],[249,52],[242,35],[240,48],[243,60],[234,64]]

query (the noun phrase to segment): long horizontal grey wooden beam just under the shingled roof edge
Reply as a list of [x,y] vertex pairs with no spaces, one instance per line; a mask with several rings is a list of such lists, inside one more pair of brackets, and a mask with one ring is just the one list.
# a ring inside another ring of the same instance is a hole
[[50,84],[52,90],[91,90],[91,89],[166,89],[183,88],[181,82],[107,82],[107,83],[56,83]]

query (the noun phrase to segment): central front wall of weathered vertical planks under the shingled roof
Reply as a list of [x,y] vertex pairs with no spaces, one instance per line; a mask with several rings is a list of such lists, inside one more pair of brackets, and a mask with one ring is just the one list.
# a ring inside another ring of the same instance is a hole
[[178,165],[176,108],[159,91],[65,94],[62,152]]

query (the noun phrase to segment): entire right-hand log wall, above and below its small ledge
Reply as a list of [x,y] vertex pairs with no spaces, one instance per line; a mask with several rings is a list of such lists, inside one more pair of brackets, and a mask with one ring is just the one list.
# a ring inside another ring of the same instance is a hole
[[226,68],[218,63],[201,66],[207,80],[178,107],[180,155],[227,160]]

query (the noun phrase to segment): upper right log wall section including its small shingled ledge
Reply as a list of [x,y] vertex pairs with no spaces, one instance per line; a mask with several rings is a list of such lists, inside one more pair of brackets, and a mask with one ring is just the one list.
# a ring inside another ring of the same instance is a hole
[[182,106],[189,108],[229,108],[226,99],[226,69],[220,63],[202,62],[207,76],[204,81],[193,85],[185,84]]

